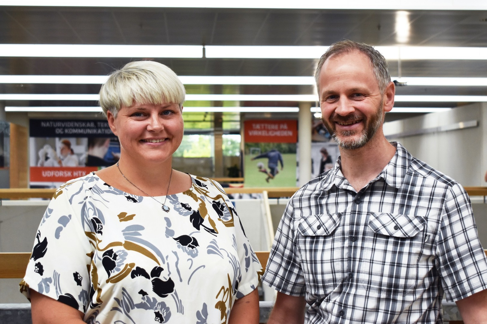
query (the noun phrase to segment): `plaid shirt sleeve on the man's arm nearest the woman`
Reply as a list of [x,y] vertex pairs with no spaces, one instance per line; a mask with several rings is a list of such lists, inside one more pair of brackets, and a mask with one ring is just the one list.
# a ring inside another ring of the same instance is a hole
[[295,239],[292,201],[291,198],[279,223],[262,282],[287,295],[304,296],[306,286]]

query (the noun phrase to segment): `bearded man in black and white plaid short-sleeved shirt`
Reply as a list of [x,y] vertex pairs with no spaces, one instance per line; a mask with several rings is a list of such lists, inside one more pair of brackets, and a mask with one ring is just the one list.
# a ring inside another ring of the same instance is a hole
[[338,42],[315,78],[341,156],[286,207],[262,279],[278,290],[268,323],[442,323],[444,295],[465,323],[487,323],[465,190],[383,134],[394,104],[384,57]]

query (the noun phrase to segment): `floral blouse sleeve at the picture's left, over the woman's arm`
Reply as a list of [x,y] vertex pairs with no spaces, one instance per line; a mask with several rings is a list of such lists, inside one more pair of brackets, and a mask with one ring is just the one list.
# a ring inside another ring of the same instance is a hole
[[84,193],[69,192],[59,189],[42,217],[20,291],[29,298],[30,288],[85,312],[93,250],[80,213],[72,207],[81,208],[82,201],[76,199],[84,198]]

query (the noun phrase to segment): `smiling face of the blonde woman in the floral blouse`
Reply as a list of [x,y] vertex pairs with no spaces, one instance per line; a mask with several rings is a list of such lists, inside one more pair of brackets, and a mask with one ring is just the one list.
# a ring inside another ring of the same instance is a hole
[[107,113],[108,124],[125,154],[140,162],[164,162],[183,140],[183,115],[177,103],[161,105],[135,103],[122,106],[114,118]]

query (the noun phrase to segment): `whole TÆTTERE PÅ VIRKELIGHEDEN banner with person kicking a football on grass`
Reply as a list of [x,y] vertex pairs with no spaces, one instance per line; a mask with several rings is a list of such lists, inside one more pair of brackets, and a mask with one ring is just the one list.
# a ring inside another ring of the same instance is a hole
[[244,187],[295,187],[297,120],[244,122]]

